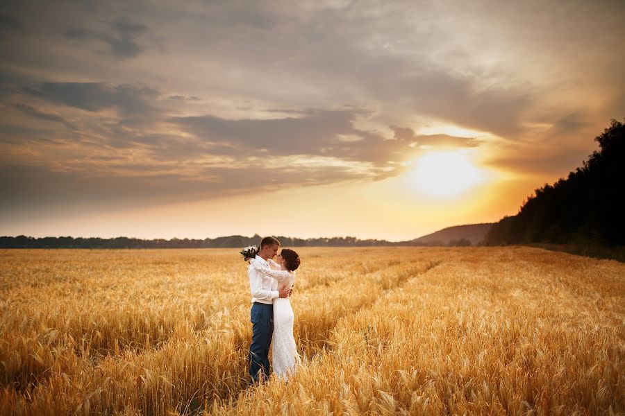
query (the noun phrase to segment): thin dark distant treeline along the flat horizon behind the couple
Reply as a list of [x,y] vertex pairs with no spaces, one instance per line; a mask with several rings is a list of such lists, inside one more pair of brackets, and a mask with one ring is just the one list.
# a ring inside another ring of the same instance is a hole
[[[262,237],[255,235],[227,236],[217,239],[155,239],[142,240],[130,239],[128,237],[117,237],[116,239],[74,239],[72,237],[43,237],[35,239],[28,236],[0,237],[0,248],[242,248],[247,245],[258,245]],[[397,246],[397,245],[471,245],[471,241],[466,239],[449,241],[443,244],[442,241],[432,243],[417,243],[415,241],[392,242],[385,240],[360,240],[356,237],[333,237],[329,239],[297,239],[292,237],[276,237],[284,247],[367,247],[367,246]]]

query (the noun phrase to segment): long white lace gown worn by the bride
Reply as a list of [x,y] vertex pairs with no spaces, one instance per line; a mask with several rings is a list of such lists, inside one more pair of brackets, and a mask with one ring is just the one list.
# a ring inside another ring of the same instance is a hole
[[[280,267],[275,261],[269,260],[269,265]],[[266,276],[278,281],[280,286],[293,287],[295,272],[287,270],[271,270],[253,263],[254,268]],[[294,314],[291,302],[288,297],[278,297],[274,299],[274,338],[272,350],[272,367],[274,374],[283,380],[288,380],[294,373],[295,365],[300,362],[297,354],[297,346],[293,337]]]

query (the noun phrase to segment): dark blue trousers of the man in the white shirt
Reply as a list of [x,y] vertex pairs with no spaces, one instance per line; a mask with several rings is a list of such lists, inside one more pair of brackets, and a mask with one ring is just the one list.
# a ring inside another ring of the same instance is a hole
[[254,302],[251,307],[252,342],[249,346],[249,374],[253,383],[269,378],[269,346],[274,335],[274,305]]

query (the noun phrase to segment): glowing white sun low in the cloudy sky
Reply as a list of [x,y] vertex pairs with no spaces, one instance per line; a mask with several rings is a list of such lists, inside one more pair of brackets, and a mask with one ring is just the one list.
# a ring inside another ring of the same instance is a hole
[[412,183],[438,198],[460,196],[484,180],[483,172],[459,151],[426,153],[411,171]]

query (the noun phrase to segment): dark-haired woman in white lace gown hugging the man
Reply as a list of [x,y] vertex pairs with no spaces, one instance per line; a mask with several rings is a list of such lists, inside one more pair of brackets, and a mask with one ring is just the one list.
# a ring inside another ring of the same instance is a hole
[[[250,261],[253,268],[263,275],[272,277],[280,282],[278,290],[285,286],[293,287],[295,280],[295,269],[299,267],[299,255],[288,248],[284,248],[276,257],[276,263],[272,259],[267,259],[272,270],[260,266],[256,261]],[[274,373],[278,378],[288,380],[290,374],[295,370],[295,364],[300,358],[297,354],[295,338],[293,338],[293,309],[288,297],[278,297],[274,299],[274,345],[272,361]]]

